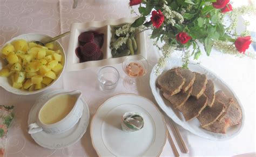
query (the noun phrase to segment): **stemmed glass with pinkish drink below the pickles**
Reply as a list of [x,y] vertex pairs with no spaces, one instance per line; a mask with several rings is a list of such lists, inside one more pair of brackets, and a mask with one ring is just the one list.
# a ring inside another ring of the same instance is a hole
[[124,78],[124,87],[130,90],[137,88],[137,79],[147,73],[149,64],[146,58],[140,55],[128,56],[124,59],[123,70],[127,74]]

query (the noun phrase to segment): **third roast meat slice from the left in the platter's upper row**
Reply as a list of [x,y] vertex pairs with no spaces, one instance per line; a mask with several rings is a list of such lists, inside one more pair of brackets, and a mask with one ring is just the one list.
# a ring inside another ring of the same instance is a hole
[[192,88],[191,95],[199,99],[205,91],[207,78],[205,74],[200,74],[197,72],[194,72],[194,73],[196,74],[196,78],[192,86],[193,88]]

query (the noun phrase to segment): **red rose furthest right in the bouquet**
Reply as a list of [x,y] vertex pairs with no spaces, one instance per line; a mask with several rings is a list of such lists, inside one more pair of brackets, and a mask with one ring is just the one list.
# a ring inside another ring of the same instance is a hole
[[241,53],[245,53],[245,50],[247,50],[252,43],[251,36],[247,37],[238,37],[237,40],[235,40],[235,47],[237,50]]

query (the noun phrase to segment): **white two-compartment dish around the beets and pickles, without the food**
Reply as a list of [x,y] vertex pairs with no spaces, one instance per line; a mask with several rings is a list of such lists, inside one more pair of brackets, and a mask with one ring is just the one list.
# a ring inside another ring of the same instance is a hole
[[[106,21],[92,21],[86,23],[72,23],[71,25],[71,34],[69,40],[68,48],[68,59],[67,67],[68,71],[79,71],[86,69],[88,67],[99,67],[105,65],[113,65],[123,63],[124,57],[112,58],[111,49],[110,49],[110,40],[111,40],[111,30],[113,25],[120,25],[125,23],[133,23],[136,17],[134,18],[120,18],[115,20],[106,20]],[[80,33],[85,31],[98,31],[104,33],[104,43],[102,46],[103,59],[79,63],[79,58],[76,56],[75,50],[78,47],[78,36]],[[141,56],[147,58],[146,53],[146,41],[145,41],[145,32],[141,32],[136,36],[138,44],[138,52]]]

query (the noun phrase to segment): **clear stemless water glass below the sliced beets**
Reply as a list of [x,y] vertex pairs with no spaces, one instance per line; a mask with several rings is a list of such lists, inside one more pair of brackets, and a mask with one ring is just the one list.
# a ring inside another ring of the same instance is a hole
[[98,81],[103,91],[111,91],[117,87],[119,72],[112,66],[105,66],[99,70]]

